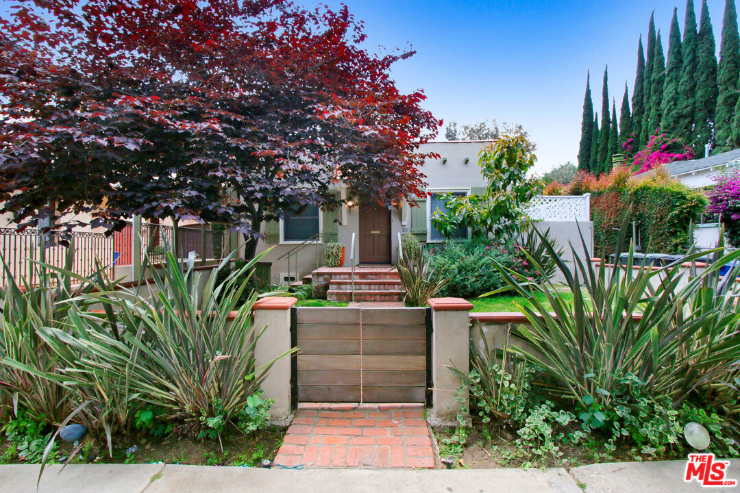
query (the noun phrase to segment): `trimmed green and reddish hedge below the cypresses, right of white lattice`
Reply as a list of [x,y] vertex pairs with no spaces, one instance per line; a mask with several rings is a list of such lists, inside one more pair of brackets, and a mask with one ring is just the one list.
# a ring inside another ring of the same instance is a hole
[[[690,222],[699,220],[707,207],[700,191],[669,180],[647,179],[619,188],[591,192],[593,248],[601,255],[613,252],[625,214],[632,204],[630,220],[639,228],[642,251],[683,254],[690,246]],[[632,231],[628,237],[631,239]]]

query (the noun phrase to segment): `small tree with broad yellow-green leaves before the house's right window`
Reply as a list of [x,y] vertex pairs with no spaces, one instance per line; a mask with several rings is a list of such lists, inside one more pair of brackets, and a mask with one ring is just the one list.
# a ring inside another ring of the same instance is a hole
[[470,228],[476,239],[500,237],[517,230],[524,215],[522,205],[542,191],[542,183],[528,178],[536,156],[521,135],[502,135],[480,150],[479,164],[488,182],[483,194],[444,194],[447,212],[435,211],[434,227],[445,237],[459,228]]

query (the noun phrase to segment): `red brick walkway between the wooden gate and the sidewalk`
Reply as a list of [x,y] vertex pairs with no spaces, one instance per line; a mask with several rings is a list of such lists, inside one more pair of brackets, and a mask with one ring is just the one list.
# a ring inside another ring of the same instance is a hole
[[433,468],[422,404],[300,404],[275,463]]

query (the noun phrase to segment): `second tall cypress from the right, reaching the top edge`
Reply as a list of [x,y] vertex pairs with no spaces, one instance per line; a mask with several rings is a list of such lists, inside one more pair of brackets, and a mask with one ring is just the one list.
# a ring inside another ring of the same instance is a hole
[[702,14],[699,18],[697,44],[696,106],[694,108],[693,146],[699,154],[704,152],[704,144],[712,142],[712,122],[717,106],[717,58],[712,19],[709,16],[707,0],[702,1]]

